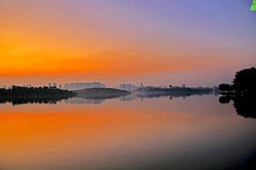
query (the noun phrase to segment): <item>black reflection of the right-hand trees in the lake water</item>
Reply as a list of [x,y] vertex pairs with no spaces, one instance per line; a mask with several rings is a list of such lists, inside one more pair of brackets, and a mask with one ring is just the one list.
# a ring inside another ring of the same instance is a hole
[[220,103],[234,101],[234,108],[238,115],[245,118],[256,118],[256,98],[253,96],[221,96]]

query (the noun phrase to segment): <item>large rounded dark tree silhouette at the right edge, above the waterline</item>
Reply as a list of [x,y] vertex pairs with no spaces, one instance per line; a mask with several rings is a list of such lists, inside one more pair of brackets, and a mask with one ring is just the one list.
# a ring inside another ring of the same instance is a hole
[[234,90],[239,94],[256,95],[256,69],[242,69],[233,79]]

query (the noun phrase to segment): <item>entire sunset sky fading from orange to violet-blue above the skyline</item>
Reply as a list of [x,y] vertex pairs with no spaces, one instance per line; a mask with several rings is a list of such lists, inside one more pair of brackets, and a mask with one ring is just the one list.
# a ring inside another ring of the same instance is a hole
[[0,0],[0,88],[218,86],[256,67],[251,0]]

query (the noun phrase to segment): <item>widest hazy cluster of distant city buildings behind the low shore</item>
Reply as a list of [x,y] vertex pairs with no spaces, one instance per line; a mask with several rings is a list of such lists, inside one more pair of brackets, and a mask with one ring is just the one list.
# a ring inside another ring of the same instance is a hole
[[102,84],[100,82],[90,82],[90,83],[70,83],[70,84],[64,84],[63,89],[68,90],[82,90],[82,89],[88,89],[88,88],[106,88],[105,84]]

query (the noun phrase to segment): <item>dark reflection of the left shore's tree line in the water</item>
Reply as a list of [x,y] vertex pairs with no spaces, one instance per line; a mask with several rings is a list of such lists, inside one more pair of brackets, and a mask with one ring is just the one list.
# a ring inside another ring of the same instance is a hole
[[15,105],[20,104],[27,104],[27,103],[57,103],[57,101],[61,101],[63,99],[68,99],[70,97],[73,97],[73,95],[70,96],[28,96],[28,97],[1,97],[0,103],[12,103]]

